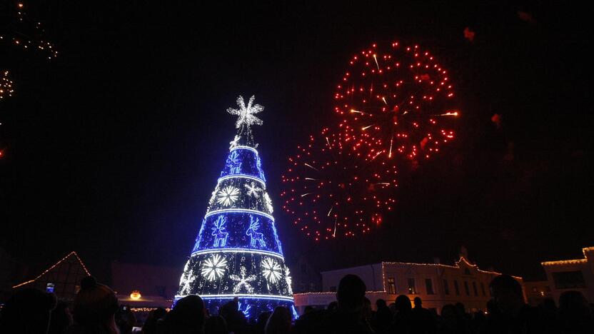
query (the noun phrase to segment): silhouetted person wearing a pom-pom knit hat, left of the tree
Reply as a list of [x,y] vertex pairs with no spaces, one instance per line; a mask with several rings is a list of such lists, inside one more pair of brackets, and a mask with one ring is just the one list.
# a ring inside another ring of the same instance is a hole
[[115,319],[118,308],[114,290],[87,276],[81,280],[81,290],[74,298],[74,325],[69,328],[68,333],[119,334]]

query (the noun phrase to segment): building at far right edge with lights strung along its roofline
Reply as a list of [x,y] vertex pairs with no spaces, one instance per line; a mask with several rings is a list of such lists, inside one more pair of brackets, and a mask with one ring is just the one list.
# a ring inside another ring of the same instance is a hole
[[582,248],[583,258],[545,261],[543,265],[555,302],[564,291],[577,290],[594,303],[594,247]]

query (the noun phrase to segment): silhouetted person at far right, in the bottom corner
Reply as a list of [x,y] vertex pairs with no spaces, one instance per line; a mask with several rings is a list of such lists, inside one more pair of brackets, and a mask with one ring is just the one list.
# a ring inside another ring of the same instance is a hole
[[594,323],[588,300],[579,291],[565,291],[559,297],[559,330],[564,333],[592,333]]

